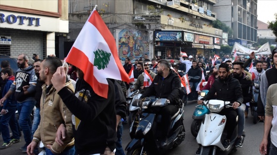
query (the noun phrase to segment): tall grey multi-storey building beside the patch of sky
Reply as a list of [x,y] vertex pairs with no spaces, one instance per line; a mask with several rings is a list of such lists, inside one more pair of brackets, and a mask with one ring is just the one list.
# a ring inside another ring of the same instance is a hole
[[257,0],[216,0],[214,11],[233,30],[232,39],[257,42]]

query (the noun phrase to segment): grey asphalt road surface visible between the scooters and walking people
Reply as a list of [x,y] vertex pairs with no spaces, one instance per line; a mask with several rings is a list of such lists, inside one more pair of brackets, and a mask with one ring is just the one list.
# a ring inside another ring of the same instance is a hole
[[[166,155],[195,155],[198,148],[196,139],[190,133],[190,124],[193,121],[191,116],[195,109],[196,101],[188,102],[185,106],[185,140],[175,149],[167,151]],[[260,155],[259,146],[263,138],[263,123],[253,124],[253,116],[248,114],[245,120],[246,137],[242,148],[238,148],[236,153],[231,155]],[[129,124],[124,124],[123,131],[123,148],[127,146],[131,138],[129,136]],[[0,145],[3,144],[2,137],[0,137]],[[19,148],[25,144],[23,135],[21,142],[12,144],[9,148],[0,150],[0,155],[24,155]],[[126,153],[126,152],[125,152]],[[25,154],[26,155],[26,154]]]

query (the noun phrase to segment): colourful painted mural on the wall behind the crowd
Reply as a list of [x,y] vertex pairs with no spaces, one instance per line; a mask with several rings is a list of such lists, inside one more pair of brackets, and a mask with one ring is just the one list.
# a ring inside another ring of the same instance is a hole
[[119,58],[123,61],[127,57],[132,59],[149,56],[149,34],[147,31],[122,30],[119,32],[118,50]]

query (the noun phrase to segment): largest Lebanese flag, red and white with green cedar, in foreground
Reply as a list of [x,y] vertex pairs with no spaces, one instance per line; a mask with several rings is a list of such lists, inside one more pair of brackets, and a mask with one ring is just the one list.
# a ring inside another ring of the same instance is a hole
[[115,39],[95,9],[65,61],[80,68],[84,72],[84,80],[104,98],[108,96],[106,78],[130,81],[117,55]]

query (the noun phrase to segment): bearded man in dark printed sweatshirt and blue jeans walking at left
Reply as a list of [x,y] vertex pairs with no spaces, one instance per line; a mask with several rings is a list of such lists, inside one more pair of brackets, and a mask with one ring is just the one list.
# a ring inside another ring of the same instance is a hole
[[[19,125],[23,131],[25,145],[20,148],[23,153],[26,153],[27,146],[31,143],[31,120],[30,115],[36,104],[35,90],[37,84],[37,76],[31,65],[28,64],[28,56],[20,54],[17,58],[17,66],[19,69],[15,73],[15,80],[10,86],[9,91],[0,99],[3,103],[12,93],[15,93],[15,99],[18,102],[18,113],[19,113]],[[30,87],[24,91],[23,87],[29,85]]]

